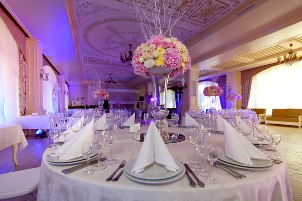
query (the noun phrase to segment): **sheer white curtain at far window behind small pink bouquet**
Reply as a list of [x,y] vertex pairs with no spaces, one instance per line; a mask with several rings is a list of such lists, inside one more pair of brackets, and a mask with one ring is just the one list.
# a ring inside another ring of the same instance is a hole
[[[210,97],[203,95],[203,89],[205,87],[211,86],[211,85],[218,86],[218,83],[211,82],[211,81],[202,81],[202,82],[198,83],[198,101],[199,101],[198,106],[204,110],[210,109],[211,103],[210,103]],[[221,109],[219,96],[216,97],[215,108],[216,108],[216,110]]]

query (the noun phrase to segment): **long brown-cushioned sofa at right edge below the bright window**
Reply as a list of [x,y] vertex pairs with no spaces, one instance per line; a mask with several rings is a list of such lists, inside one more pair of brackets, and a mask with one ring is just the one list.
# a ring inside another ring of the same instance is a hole
[[273,109],[272,115],[266,116],[265,124],[281,124],[301,128],[302,109]]

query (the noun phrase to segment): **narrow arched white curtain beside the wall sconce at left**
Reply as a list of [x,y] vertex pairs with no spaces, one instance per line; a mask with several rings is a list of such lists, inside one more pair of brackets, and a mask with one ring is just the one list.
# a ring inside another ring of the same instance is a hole
[[43,108],[48,113],[52,113],[52,89],[55,85],[56,76],[50,66],[43,66],[43,69],[44,73],[49,73],[48,81],[43,80]]

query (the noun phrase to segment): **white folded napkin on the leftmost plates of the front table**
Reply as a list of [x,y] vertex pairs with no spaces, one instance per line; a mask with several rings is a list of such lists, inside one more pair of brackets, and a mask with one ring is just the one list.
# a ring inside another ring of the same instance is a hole
[[58,156],[60,161],[81,157],[84,142],[91,142],[94,121],[82,128],[72,139],[55,150],[52,156]]

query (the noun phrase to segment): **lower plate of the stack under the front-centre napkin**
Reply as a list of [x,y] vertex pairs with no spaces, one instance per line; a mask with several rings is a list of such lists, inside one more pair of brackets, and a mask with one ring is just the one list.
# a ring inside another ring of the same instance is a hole
[[124,174],[126,177],[128,177],[129,179],[139,182],[139,183],[144,183],[144,184],[164,184],[164,183],[170,183],[172,181],[176,181],[178,179],[180,179],[181,177],[183,177],[183,175],[186,172],[186,168],[182,165],[182,170],[179,174],[177,174],[176,176],[170,177],[170,178],[166,178],[166,179],[159,179],[159,180],[148,180],[148,179],[141,179],[141,178],[137,178],[134,176],[131,176],[129,173],[127,173],[127,171],[124,171]]

